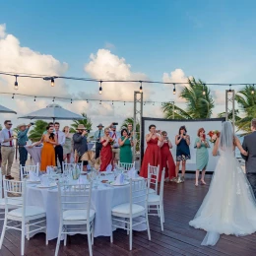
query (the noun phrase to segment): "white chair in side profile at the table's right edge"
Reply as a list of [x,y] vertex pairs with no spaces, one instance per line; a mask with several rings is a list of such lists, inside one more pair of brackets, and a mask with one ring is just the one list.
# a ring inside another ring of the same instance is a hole
[[[148,197],[148,210],[149,215],[153,216],[159,216],[160,217],[160,229],[163,231],[163,223],[164,223],[164,213],[163,213],[163,185],[164,185],[164,174],[165,174],[165,168],[161,171],[161,177],[160,177],[160,194],[151,193]],[[148,179],[151,179],[151,175],[148,177]],[[148,186],[149,186],[148,182]],[[149,188],[149,187],[148,187]],[[156,207],[156,208],[155,208]],[[157,211],[158,213],[151,214],[151,211]]]

